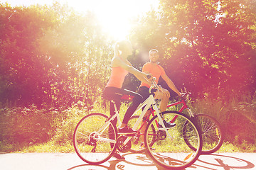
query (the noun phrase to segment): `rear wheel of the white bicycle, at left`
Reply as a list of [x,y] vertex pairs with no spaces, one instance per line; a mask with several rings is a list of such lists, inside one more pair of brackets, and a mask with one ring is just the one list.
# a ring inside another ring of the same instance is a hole
[[107,115],[92,113],[82,118],[75,128],[75,152],[88,164],[106,162],[117,149],[117,128],[107,120]]

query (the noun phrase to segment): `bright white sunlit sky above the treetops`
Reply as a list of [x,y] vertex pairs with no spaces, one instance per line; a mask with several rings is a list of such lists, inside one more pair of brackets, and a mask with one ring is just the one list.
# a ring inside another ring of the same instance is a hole
[[[51,5],[56,0],[0,0],[11,6],[30,6],[34,4]],[[158,8],[158,0],[57,0],[60,4],[68,4],[75,11],[83,13],[87,10],[95,12],[104,29],[115,39],[125,39],[129,33],[131,18],[143,15],[151,8]]]

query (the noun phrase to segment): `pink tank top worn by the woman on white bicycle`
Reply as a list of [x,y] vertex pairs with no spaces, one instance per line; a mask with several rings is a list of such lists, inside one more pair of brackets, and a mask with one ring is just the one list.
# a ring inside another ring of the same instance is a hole
[[107,82],[107,86],[122,88],[125,76],[128,74],[128,71],[122,67],[112,67],[110,80]]

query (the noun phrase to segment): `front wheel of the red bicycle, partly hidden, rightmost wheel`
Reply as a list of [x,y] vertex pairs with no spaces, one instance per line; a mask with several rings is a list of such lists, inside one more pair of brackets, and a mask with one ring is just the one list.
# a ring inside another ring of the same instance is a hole
[[[196,114],[194,118],[198,121],[202,131],[203,148],[201,154],[212,154],[218,151],[218,149],[223,145],[224,140],[224,133],[220,123],[210,115],[202,113]],[[186,135],[186,127],[183,128],[183,134]],[[184,140],[188,147],[193,150],[196,149],[189,143],[186,136],[184,136]]]

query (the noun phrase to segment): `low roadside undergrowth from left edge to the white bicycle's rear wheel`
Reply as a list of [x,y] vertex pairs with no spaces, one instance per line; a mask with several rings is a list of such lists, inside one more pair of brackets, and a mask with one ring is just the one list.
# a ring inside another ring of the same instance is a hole
[[55,108],[0,108],[0,142],[36,144],[53,140],[63,144],[72,140],[75,125],[89,113],[85,103],[78,102],[64,111]]

